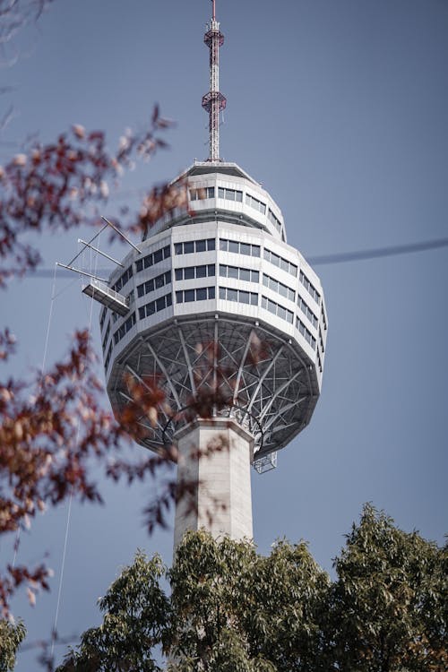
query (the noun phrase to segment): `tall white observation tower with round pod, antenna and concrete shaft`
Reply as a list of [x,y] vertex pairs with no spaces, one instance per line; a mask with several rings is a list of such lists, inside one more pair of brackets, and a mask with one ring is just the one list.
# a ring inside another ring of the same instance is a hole
[[167,408],[156,426],[141,418],[139,443],[159,453],[176,444],[179,481],[197,479],[195,510],[177,504],[175,547],[186,529],[201,527],[253,537],[251,464],[270,470],[309,423],[327,335],[321,282],[288,245],[280,207],[220,159],[224,36],[214,2],[204,41],[210,151],[175,180],[186,185],[188,208],[161,217],[108,284],[92,279],[83,289],[103,304],[113,409],[131,400],[130,381],[156,380]]

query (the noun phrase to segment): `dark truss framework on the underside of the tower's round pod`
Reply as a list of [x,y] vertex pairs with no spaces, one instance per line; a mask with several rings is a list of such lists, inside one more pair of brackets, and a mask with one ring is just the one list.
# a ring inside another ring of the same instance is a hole
[[314,367],[296,342],[267,325],[221,315],[142,332],[112,366],[108,392],[115,409],[129,399],[125,371],[139,381],[157,379],[165,393],[157,426],[139,419],[146,429],[140,443],[156,452],[203,405],[206,413],[234,418],[254,435],[260,459],[308,424],[318,397]]

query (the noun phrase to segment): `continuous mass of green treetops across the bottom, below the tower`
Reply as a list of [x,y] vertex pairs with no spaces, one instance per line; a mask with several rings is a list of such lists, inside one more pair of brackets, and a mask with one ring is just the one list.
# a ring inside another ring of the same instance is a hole
[[187,532],[168,571],[135,556],[59,672],[155,671],[160,647],[170,672],[445,672],[446,547],[366,505],[334,565]]

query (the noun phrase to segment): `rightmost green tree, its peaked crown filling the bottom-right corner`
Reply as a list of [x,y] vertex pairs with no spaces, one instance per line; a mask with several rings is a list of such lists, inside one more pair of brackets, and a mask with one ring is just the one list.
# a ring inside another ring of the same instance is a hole
[[366,504],[334,566],[325,628],[333,669],[446,670],[446,547]]

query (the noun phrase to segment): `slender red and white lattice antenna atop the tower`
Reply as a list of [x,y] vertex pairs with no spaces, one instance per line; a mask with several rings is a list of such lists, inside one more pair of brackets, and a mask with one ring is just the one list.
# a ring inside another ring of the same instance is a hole
[[220,93],[220,47],[224,35],[216,21],[215,0],[203,41],[210,49],[210,91],[202,96],[202,108],[209,113],[209,161],[220,161],[220,110],[226,107],[226,98]]

